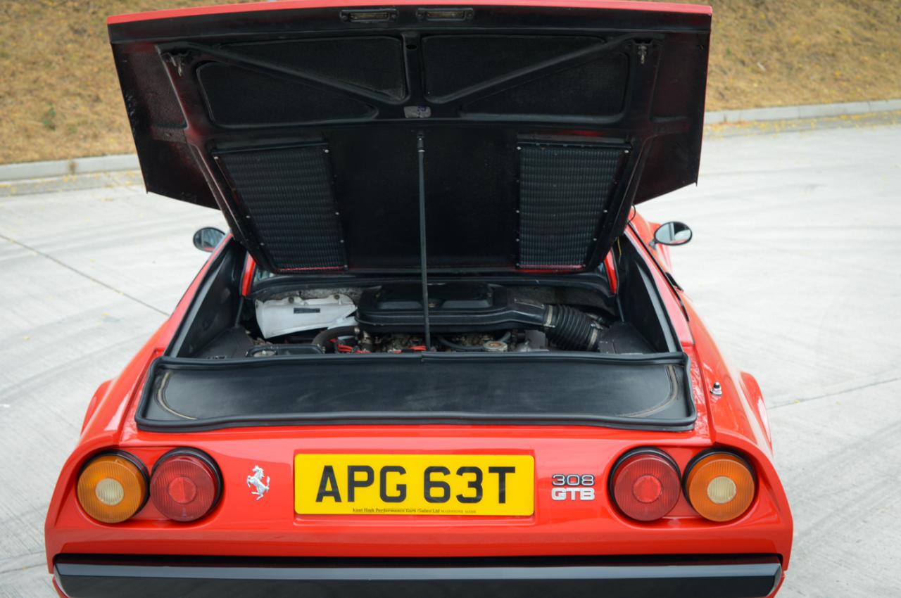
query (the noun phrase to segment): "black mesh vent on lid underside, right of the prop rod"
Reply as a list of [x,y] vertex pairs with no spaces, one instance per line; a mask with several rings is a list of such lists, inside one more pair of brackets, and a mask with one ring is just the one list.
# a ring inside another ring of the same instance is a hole
[[581,269],[623,150],[521,147],[519,267]]

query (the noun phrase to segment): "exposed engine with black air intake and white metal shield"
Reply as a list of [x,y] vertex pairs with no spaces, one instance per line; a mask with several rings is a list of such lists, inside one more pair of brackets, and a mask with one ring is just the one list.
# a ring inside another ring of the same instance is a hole
[[240,325],[198,358],[418,351],[651,352],[605,297],[568,286],[449,282],[428,286],[432,346],[426,346],[422,286],[304,288],[256,297]]

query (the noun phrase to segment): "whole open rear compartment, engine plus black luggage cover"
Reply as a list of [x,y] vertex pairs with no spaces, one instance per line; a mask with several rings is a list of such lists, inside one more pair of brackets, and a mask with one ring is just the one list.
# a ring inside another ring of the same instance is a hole
[[226,249],[150,368],[144,430],[694,421],[687,356],[627,244],[613,285],[600,269],[248,279]]

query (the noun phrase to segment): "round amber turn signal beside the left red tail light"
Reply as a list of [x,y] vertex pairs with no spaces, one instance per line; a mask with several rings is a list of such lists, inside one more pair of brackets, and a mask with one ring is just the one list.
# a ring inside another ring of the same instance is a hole
[[78,476],[78,503],[104,523],[119,523],[141,510],[147,500],[147,476],[137,458],[124,453],[100,455]]

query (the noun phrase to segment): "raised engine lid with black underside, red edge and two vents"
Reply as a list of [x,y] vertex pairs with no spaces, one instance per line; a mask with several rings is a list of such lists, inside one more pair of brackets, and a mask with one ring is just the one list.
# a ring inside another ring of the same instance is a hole
[[[694,183],[710,9],[287,1],[109,34],[147,189],[274,273],[597,267]],[[419,166],[422,152],[422,167]]]

